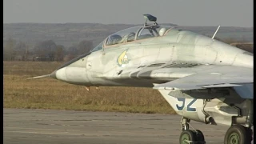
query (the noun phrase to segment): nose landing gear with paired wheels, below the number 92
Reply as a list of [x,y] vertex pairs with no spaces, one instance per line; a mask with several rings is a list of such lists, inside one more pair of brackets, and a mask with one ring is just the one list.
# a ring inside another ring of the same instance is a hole
[[180,144],[200,143],[205,144],[205,138],[200,130],[189,130],[190,119],[182,118],[182,134],[179,138]]

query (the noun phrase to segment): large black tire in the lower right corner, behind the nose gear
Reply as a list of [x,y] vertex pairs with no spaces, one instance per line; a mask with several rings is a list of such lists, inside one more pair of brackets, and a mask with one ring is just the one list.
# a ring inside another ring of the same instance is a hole
[[241,125],[230,126],[226,131],[224,144],[250,144],[252,135],[248,135],[248,131]]

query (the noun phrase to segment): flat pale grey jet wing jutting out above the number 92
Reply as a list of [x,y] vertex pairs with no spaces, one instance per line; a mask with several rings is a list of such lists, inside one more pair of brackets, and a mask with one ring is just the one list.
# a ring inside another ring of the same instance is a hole
[[210,66],[174,81],[154,86],[158,90],[200,90],[233,87],[241,98],[254,98],[253,69],[238,66]]

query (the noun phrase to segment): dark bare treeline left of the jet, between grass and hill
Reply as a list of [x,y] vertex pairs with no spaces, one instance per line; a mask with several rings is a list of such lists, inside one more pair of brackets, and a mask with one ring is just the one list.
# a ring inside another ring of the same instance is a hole
[[8,38],[3,46],[4,61],[68,61],[78,55],[85,54],[93,48],[93,42],[83,40],[73,46],[65,47],[53,40],[38,42],[29,46],[26,42],[16,42]]

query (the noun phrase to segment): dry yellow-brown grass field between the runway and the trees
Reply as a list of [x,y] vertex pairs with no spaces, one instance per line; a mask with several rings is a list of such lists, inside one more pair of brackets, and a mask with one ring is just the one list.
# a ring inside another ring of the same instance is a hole
[[137,87],[75,86],[54,78],[26,78],[50,74],[60,62],[3,62],[4,107],[57,110],[121,111],[175,114],[158,90]]

